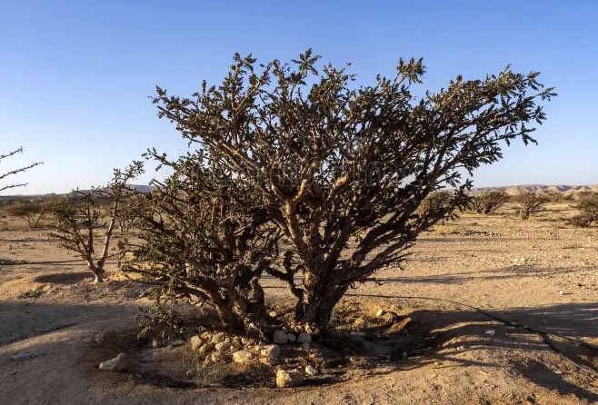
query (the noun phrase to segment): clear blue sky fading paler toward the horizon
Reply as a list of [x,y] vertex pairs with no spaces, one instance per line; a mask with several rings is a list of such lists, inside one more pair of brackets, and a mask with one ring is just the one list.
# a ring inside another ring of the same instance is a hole
[[0,172],[45,162],[14,178],[29,183],[19,193],[105,183],[148,146],[184,150],[147,98],[156,84],[187,95],[219,81],[235,52],[288,60],[313,47],[353,62],[364,83],[393,74],[399,57],[424,57],[433,91],[506,64],[539,70],[559,94],[540,145],[514,144],[475,185],[598,183],[596,15],[591,0],[3,1],[0,152],[25,153]]

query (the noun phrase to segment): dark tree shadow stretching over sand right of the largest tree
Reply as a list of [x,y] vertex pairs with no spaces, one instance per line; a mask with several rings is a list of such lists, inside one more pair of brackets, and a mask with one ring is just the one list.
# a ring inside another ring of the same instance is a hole
[[[352,294],[359,296],[360,294]],[[401,302],[402,300],[392,300]],[[402,301],[404,304],[404,301]],[[409,302],[413,306],[414,302]],[[407,305],[405,305],[407,306]],[[598,336],[598,302],[569,303],[534,308],[515,308],[491,313],[505,321],[514,321],[537,331],[574,338],[581,341],[595,340]],[[417,310],[409,314],[412,322],[406,327],[409,337],[404,337],[398,348],[407,351],[407,359],[385,361],[386,368],[373,370],[371,375],[384,375],[394,370],[412,370],[424,366],[434,368],[478,366],[484,369],[510,369],[527,380],[546,389],[573,394],[578,398],[598,402],[598,394],[589,388],[595,375],[573,368],[561,358],[551,361],[553,368],[537,359],[554,353],[537,334],[499,323],[477,311]],[[391,336],[390,339],[393,339]],[[583,347],[574,341],[564,341],[549,336],[554,346],[567,358],[598,372],[598,351]],[[401,341],[398,339],[397,341]],[[422,344],[427,342],[426,344]],[[463,356],[468,351],[496,351],[490,358],[500,358],[502,351],[523,351],[530,356],[513,357],[508,363],[472,360]],[[378,361],[377,364],[379,364]],[[443,365],[447,363],[447,365]],[[449,365],[450,364],[450,365]],[[554,364],[557,364],[556,368]],[[365,367],[374,367],[375,359]],[[563,370],[559,370],[560,368]],[[571,371],[573,370],[574,371]],[[574,374],[575,378],[567,378]],[[587,383],[587,385],[586,385]]]

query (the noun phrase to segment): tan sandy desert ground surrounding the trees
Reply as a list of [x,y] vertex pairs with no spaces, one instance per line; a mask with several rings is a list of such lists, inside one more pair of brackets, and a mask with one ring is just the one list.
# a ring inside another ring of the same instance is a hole
[[[375,367],[344,366],[332,382],[301,389],[173,388],[148,382],[141,369],[100,371],[98,362],[117,354],[116,342],[131,336],[138,307],[147,305],[125,288],[114,263],[111,281],[102,285],[92,284],[76,262],[0,264],[0,403],[598,403],[596,376],[539,335],[453,302],[598,344],[598,228],[565,225],[571,214],[566,204],[553,204],[523,222],[507,207],[490,216],[465,214],[424,234],[403,270],[385,269],[377,275],[382,285],[359,286],[347,302],[404,309],[412,333],[434,342],[429,350]],[[0,261],[69,259],[44,232],[0,219]],[[273,280],[264,287],[271,301],[284,300]],[[35,289],[38,297],[22,298]],[[598,351],[552,341],[598,370]],[[11,360],[24,351],[36,356]],[[168,358],[167,351],[160,353]],[[170,358],[184,361],[186,347],[172,351]]]

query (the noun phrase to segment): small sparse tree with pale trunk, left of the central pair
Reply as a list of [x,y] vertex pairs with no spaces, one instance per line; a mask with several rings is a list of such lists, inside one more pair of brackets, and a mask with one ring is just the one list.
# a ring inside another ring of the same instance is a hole
[[[50,236],[65,250],[77,253],[85,261],[94,274],[94,282],[104,281],[104,266],[115,224],[130,194],[126,183],[140,173],[143,173],[143,166],[140,162],[135,162],[124,172],[115,170],[111,183],[106,187],[85,192],[75,191],[52,204],[51,212],[56,229],[50,232]],[[106,222],[102,225],[101,221],[104,220]],[[99,257],[95,255],[97,228],[105,228]]]

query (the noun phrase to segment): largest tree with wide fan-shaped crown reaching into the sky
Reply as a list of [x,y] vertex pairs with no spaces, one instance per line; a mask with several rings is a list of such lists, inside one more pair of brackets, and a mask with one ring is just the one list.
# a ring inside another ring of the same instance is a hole
[[507,67],[416,99],[422,60],[354,88],[348,66],[318,59],[308,50],[290,64],[257,64],[237,54],[222,84],[204,82],[190,98],[158,87],[154,99],[197,153],[264,201],[288,240],[287,265],[271,273],[288,282],[297,321],[314,333],[349,288],[402,262],[446,216],[415,214],[427,195],[449,186],[452,206],[463,207],[472,182],[462,173],[499,160],[503,143],[535,143],[531,123],[543,122],[540,104],[554,95],[538,73]]

